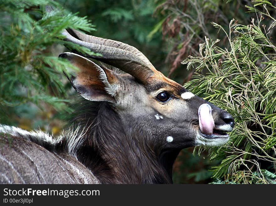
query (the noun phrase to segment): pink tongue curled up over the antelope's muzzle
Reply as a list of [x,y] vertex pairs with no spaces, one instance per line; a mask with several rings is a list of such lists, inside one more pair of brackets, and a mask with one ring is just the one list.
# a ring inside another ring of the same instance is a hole
[[205,135],[213,134],[215,123],[212,117],[211,106],[209,104],[201,104],[198,110],[198,114],[199,114],[199,128],[201,133]]

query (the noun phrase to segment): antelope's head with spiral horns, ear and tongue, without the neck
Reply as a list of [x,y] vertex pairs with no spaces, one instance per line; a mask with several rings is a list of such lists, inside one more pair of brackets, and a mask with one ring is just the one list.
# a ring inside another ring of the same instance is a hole
[[[67,77],[83,98],[107,101],[129,132],[141,132],[148,144],[162,150],[193,145],[223,145],[234,126],[226,111],[195,96],[183,86],[157,71],[136,48],[122,42],[63,31],[66,40],[89,48],[102,56],[60,55],[79,68]],[[88,58],[124,71],[117,74]]]

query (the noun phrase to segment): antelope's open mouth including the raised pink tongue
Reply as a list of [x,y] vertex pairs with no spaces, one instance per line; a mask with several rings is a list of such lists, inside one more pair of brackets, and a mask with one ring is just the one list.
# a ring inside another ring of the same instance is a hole
[[230,125],[215,126],[212,117],[212,108],[209,104],[202,104],[198,109],[199,115],[199,134],[204,138],[229,138],[226,132],[230,132]]

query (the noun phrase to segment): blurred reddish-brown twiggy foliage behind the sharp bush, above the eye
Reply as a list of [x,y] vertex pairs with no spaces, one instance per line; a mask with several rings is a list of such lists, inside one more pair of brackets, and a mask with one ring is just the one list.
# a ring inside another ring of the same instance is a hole
[[[165,41],[166,59],[169,67],[168,76],[177,82],[187,82],[194,70],[187,71],[181,61],[188,55],[200,55],[198,45],[204,42],[204,36],[211,39],[221,39],[218,44],[225,44],[225,35],[217,33],[211,24],[216,21],[222,26],[235,17],[237,20],[247,19],[251,14],[245,13],[243,3],[250,5],[247,1],[221,0],[167,0],[157,1],[158,5],[155,16],[159,22],[148,35],[148,39],[162,31]],[[166,72],[167,73],[167,72]]]

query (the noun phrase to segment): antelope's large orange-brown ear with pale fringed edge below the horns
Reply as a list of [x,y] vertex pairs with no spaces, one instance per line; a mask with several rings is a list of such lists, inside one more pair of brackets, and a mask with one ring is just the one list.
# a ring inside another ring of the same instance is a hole
[[79,71],[66,68],[66,76],[75,90],[90,101],[115,102],[119,81],[113,71],[100,67],[93,61],[71,52],[59,55],[77,67]]

